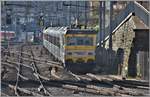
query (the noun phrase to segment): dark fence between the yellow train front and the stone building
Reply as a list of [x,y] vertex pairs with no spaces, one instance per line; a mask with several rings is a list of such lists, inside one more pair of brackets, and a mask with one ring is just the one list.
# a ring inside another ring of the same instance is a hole
[[101,74],[118,74],[121,59],[119,54],[113,50],[102,47],[96,49],[96,65]]

